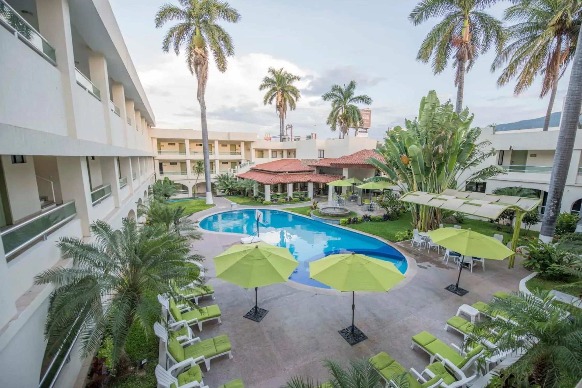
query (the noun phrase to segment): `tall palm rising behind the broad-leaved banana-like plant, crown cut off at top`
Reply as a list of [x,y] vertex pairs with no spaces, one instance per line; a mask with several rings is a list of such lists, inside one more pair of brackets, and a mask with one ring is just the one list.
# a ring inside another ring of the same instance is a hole
[[417,26],[432,17],[444,16],[424,38],[416,59],[428,63],[432,58],[432,70],[435,74],[440,74],[448,65],[449,59],[455,58],[453,68],[457,69],[457,115],[463,110],[465,73],[473,67],[475,59],[485,54],[492,45],[495,45],[498,54],[505,45],[506,34],[502,22],[485,12],[494,2],[495,0],[422,0],[408,17]]

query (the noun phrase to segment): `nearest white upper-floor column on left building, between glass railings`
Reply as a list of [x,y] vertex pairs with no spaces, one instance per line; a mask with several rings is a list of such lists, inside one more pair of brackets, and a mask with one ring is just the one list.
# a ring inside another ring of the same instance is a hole
[[77,85],[73,55],[73,37],[69,3],[63,0],[37,0],[38,29],[56,50],[56,65],[61,72],[62,94],[65,100],[67,133],[77,137],[73,109],[73,88]]

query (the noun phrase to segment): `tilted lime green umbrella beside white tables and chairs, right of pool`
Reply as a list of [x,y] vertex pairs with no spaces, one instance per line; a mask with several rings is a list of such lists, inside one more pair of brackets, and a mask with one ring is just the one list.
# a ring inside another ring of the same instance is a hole
[[[508,247],[503,245],[501,241],[496,240],[493,237],[485,236],[485,234],[475,232],[471,229],[441,227],[437,230],[430,230],[428,236],[431,237],[433,243],[439,244],[441,247],[448,248],[449,250],[455,251],[463,256],[503,260],[514,253]],[[459,267],[457,284],[450,284],[445,287],[445,289],[457,294],[458,296],[463,296],[469,291],[459,288],[463,263],[460,263]]]

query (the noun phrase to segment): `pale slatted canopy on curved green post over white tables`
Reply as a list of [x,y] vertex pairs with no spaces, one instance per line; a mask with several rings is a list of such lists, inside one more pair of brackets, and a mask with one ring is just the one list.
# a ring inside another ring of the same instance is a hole
[[[441,194],[425,191],[409,191],[400,197],[400,201],[416,205],[445,209],[469,215],[497,219],[506,210],[516,212],[511,250],[516,251],[517,239],[521,229],[521,219],[541,204],[541,198],[513,197],[511,195],[475,193],[474,191],[453,190],[448,188]],[[508,268],[512,268],[515,255],[509,258]]]

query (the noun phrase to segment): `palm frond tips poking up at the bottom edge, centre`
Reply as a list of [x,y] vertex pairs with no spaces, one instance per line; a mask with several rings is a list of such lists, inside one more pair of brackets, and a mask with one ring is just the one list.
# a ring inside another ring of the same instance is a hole
[[[350,388],[381,388],[381,378],[370,361],[365,359],[352,359],[347,371],[337,362],[326,359],[325,368],[328,370],[331,378],[329,386],[331,387],[350,387]],[[293,377],[286,385],[281,388],[321,388],[324,383],[317,383],[310,378],[302,376]]]

